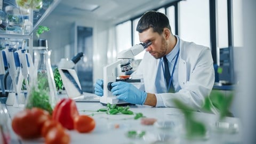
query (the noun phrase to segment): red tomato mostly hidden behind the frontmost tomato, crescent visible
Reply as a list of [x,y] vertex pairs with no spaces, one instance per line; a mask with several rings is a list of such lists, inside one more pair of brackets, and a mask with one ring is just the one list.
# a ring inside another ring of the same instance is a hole
[[54,127],[57,128],[57,129],[63,129],[63,130],[64,130],[64,128],[62,127],[62,125],[61,125],[59,122],[53,121],[53,120],[48,120],[48,121],[44,122],[44,124],[43,124],[42,130],[41,130],[41,135],[42,135],[43,137],[45,137],[46,134],[47,134],[52,128],[54,128]]

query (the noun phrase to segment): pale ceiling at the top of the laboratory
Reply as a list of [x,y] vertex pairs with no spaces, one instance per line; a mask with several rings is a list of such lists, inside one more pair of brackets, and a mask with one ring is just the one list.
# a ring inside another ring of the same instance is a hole
[[[173,1],[175,0],[61,0],[52,13],[81,15],[103,21],[122,21]],[[87,10],[88,7],[95,5],[98,7],[93,11]]]

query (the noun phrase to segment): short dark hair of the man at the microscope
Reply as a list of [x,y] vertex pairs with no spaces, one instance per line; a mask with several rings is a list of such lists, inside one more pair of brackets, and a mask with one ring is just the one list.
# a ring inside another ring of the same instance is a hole
[[148,11],[140,18],[136,30],[142,33],[144,30],[153,28],[154,32],[162,34],[164,28],[168,28],[171,31],[169,19],[165,14],[157,11]]

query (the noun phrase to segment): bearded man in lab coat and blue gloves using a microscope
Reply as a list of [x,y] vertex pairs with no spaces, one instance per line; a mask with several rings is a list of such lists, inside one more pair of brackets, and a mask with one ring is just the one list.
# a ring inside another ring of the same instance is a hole
[[[173,99],[179,99],[200,110],[214,84],[209,47],[185,42],[173,35],[166,15],[156,11],[143,14],[137,31],[140,42],[152,43],[131,75],[143,78],[144,84],[139,90],[130,83],[114,82],[111,84],[113,95],[126,102],[154,107],[175,107]],[[97,81],[95,94],[103,95],[102,84],[102,80]]]

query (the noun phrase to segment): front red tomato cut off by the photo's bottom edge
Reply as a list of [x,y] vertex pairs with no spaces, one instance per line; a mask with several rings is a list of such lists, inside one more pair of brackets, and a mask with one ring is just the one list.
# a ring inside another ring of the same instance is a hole
[[69,134],[64,129],[53,127],[45,136],[46,144],[67,144],[70,143]]

